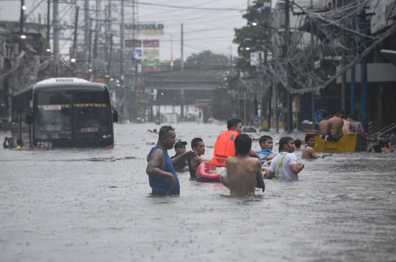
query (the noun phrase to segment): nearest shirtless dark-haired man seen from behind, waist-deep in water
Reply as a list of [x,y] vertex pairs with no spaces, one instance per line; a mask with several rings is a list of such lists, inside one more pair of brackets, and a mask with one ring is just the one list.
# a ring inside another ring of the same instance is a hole
[[228,178],[225,186],[230,188],[230,196],[254,196],[256,187],[262,188],[264,192],[261,161],[248,156],[251,138],[246,134],[239,135],[234,144],[238,156],[228,157],[226,160]]

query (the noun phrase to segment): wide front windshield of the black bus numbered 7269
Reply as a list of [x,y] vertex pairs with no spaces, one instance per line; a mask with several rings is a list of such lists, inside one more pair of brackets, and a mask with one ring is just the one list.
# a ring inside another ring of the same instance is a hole
[[109,139],[112,119],[103,91],[59,91],[36,94],[36,139]]

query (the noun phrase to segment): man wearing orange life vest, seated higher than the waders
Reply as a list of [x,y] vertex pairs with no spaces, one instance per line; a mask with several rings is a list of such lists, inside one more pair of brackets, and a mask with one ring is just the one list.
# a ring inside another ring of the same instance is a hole
[[[225,167],[225,160],[228,157],[236,156],[234,141],[242,133],[242,121],[238,118],[231,118],[227,121],[227,129],[228,131],[222,132],[216,139],[215,156],[211,161],[213,165]],[[249,156],[261,160],[253,150],[250,150]]]

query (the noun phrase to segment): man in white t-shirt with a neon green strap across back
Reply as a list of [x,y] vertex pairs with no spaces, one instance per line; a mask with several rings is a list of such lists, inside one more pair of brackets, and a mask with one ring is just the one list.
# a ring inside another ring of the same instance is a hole
[[298,173],[304,168],[303,163],[297,163],[295,154],[294,139],[291,137],[282,137],[279,140],[279,152],[272,159],[272,163],[267,169],[265,178],[279,180],[298,180]]

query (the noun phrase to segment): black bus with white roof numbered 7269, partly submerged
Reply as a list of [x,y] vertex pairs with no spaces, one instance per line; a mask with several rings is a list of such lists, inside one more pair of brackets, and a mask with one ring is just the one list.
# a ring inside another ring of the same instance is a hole
[[50,78],[13,96],[11,135],[32,148],[114,147],[118,114],[105,84]]

